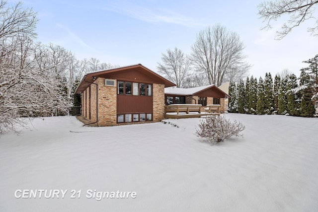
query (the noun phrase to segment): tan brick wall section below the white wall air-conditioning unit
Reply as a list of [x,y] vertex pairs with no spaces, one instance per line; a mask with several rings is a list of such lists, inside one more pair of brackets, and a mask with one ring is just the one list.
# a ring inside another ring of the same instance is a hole
[[115,86],[106,86],[105,78],[99,77],[98,84],[98,126],[117,125],[117,81]]

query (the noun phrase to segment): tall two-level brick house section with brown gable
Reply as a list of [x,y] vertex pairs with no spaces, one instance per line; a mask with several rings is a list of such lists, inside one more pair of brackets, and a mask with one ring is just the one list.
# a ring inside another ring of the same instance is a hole
[[160,121],[164,88],[174,83],[141,64],[87,73],[81,94],[81,116],[97,126]]

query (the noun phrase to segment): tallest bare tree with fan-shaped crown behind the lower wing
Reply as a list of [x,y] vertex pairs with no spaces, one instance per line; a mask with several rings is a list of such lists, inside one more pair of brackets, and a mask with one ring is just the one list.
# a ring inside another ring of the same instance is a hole
[[217,24],[197,34],[192,45],[192,61],[196,71],[205,73],[209,84],[220,86],[233,73],[248,73],[251,66],[244,61],[244,48],[237,33]]

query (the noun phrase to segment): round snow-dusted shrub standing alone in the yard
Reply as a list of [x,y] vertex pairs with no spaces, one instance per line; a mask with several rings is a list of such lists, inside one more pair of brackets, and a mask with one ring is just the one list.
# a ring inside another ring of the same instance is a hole
[[234,121],[232,123],[224,116],[209,115],[200,121],[195,135],[215,143],[229,139],[231,136],[242,136],[239,133],[244,129],[245,126],[240,122]]

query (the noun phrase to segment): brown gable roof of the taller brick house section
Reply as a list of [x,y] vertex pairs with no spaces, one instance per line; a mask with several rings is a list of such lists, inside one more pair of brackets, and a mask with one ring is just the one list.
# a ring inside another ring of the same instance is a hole
[[133,70],[138,70],[142,71],[145,74],[147,74],[149,77],[152,77],[156,79],[156,82],[164,84],[164,87],[170,87],[170,86],[175,86],[175,84],[166,78],[160,76],[158,73],[151,71],[150,69],[147,69],[141,64],[137,65],[132,65],[132,66],[124,66],[124,67],[118,67],[118,68],[113,68],[113,69],[106,69],[106,70],[101,70],[101,71],[94,71],[90,73],[86,73],[84,77],[81,79],[79,82],[79,86],[75,91],[75,94],[83,92],[89,85],[91,85],[98,77],[104,77],[106,78],[107,75],[111,75],[114,73],[119,73],[122,71],[133,71]]

